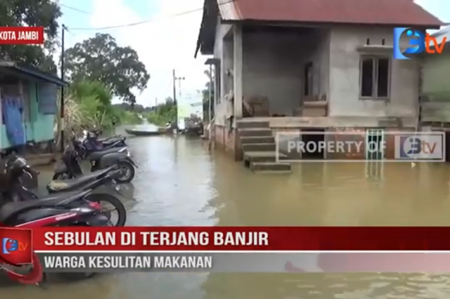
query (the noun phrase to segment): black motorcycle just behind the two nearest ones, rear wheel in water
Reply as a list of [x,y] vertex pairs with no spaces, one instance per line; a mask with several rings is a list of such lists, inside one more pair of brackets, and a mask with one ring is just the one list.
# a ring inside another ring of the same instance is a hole
[[53,180],[65,180],[83,175],[82,168],[79,166],[79,161],[82,159],[88,159],[91,162],[91,172],[111,166],[117,167],[120,175],[115,177],[116,182],[131,182],[134,179],[137,166],[131,159],[127,147],[91,152],[86,148],[85,141],[72,139],[72,145],[66,147],[62,159],[56,164]]

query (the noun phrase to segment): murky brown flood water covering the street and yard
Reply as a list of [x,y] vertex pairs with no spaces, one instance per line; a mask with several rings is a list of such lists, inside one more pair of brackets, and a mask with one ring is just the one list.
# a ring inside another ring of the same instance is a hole
[[[129,138],[139,165],[129,225],[450,225],[450,165],[298,164],[255,175],[201,140]],[[41,183],[52,173],[42,171]],[[449,274],[101,275],[47,290],[4,283],[21,299],[449,298]]]

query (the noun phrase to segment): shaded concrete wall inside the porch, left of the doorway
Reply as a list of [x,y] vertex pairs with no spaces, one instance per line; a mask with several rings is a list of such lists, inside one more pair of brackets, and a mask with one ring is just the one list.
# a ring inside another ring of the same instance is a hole
[[312,94],[328,93],[329,30],[243,34],[243,95],[269,98],[270,113],[293,115],[303,98],[304,65],[312,62]]

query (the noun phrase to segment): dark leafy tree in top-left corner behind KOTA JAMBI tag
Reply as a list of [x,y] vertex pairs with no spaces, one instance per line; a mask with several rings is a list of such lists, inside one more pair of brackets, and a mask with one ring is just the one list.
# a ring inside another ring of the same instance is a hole
[[0,59],[25,62],[46,71],[56,72],[52,54],[58,41],[58,18],[62,15],[56,1],[1,0],[0,26],[42,26],[44,46],[1,45]]

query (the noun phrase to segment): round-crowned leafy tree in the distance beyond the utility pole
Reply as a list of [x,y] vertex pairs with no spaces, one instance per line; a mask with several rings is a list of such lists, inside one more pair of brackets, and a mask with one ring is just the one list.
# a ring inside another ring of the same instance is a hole
[[143,91],[150,75],[133,48],[121,47],[110,34],[96,36],[75,44],[65,51],[65,69],[74,81],[101,81],[113,95],[131,105],[136,96],[131,88]]

